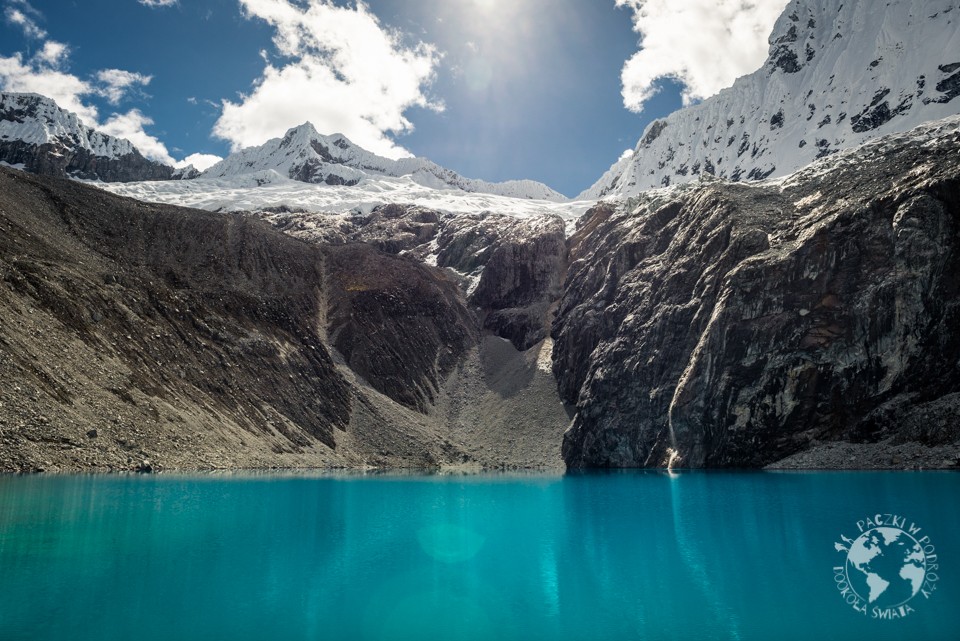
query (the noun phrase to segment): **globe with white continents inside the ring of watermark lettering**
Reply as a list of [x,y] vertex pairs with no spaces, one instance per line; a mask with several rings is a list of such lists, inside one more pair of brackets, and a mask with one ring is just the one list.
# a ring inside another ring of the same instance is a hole
[[926,578],[926,556],[913,536],[895,527],[875,527],[850,545],[850,587],[871,606],[895,608],[917,595]]

